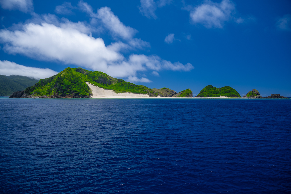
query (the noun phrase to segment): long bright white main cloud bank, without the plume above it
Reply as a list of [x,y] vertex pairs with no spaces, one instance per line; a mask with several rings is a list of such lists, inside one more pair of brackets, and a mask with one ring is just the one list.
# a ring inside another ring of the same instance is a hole
[[2,29],[0,41],[5,43],[3,50],[8,54],[74,64],[115,77],[135,76],[137,71],[190,71],[194,68],[190,63],[171,63],[153,55],[132,54],[126,59],[116,51],[114,43],[105,46],[102,38],[91,37],[67,25],[29,23],[23,26],[23,30]]

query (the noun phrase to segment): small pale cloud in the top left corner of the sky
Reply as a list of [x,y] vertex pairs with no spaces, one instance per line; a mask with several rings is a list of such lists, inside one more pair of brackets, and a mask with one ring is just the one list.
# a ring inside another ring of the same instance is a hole
[[33,11],[32,0],[0,0],[2,9],[19,10],[24,13]]

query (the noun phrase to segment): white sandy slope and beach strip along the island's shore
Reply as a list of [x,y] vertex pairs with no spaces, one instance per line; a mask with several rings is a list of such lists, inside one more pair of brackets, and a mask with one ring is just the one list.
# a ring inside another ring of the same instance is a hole
[[[134,93],[115,93],[113,90],[105,90],[103,88],[99,88],[98,86],[94,86],[91,83],[85,82],[92,91],[93,97],[91,98],[151,98],[151,99],[226,99],[228,97],[220,96],[220,97],[209,97],[209,98],[184,98],[184,97],[149,97],[148,94],[134,94]],[[246,98],[229,98],[229,99],[246,99]]]

